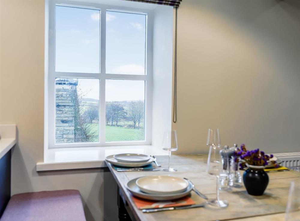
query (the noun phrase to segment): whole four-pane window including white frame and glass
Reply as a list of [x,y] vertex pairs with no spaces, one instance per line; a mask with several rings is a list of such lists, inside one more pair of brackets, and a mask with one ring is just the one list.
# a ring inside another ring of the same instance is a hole
[[151,144],[152,12],[66,3],[49,1],[49,148]]

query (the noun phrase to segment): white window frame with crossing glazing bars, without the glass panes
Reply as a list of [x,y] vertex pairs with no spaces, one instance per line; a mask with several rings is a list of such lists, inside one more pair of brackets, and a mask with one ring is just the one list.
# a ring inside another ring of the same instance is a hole
[[[71,73],[55,72],[55,6],[70,6],[85,9],[101,10],[100,19],[100,74],[91,73]],[[116,5],[104,5],[81,1],[48,1],[49,9],[49,36],[48,36],[48,148],[66,148],[66,147],[98,147],[98,146],[125,146],[125,145],[151,145],[152,143],[152,54],[153,54],[153,13],[152,10],[121,7]],[[106,58],[106,11],[130,12],[137,14],[146,14],[146,74],[107,74],[105,71]],[[105,13],[104,13],[105,12]],[[99,142],[87,143],[65,143],[55,144],[55,78],[89,78],[99,79]],[[143,80],[145,81],[145,140],[144,141],[105,141],[105,81],[109,79],[116,80]],[[47,102],[47,101],[45,101]]]

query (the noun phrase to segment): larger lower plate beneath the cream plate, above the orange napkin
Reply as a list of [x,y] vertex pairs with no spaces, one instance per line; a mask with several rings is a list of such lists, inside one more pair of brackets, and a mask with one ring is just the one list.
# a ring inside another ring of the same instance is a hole
[[139,179],[139,178],[135,178],[135,179],[132,179],[131,181],[129,181],[127,183],[127,189],[132,193],[132,195],[143,198],[143,199],[158,200],[158,201],[179,199],[179,198],[182,198],[182,197],[190,194],[190,191],[192,190],[192,185],[189,184],[187,189],[181,193],[174,193],[174,194],[143,193],[135,183],[137,179]]

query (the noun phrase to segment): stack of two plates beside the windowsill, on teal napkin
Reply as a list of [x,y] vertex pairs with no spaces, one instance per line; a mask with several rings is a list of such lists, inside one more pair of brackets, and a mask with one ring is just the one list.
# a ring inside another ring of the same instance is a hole
[[110,155],[105,159],[117,167],[143,167],[154,161],[151,156],[136,153]]

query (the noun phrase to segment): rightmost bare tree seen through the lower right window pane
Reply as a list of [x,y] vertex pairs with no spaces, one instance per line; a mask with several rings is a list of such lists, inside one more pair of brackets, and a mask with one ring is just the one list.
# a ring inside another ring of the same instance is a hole
[[144,118],[144,101],[143,100],[136,100],[131,101],[128,104],[128,117],[133,122],[133,128],[136,128],[136,125],[138,123],[138,126],[140,126],[140,123],[143,121]]

